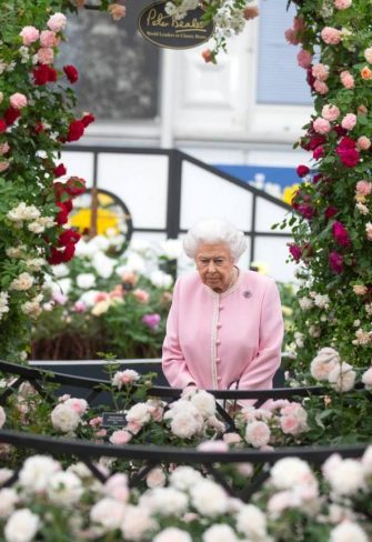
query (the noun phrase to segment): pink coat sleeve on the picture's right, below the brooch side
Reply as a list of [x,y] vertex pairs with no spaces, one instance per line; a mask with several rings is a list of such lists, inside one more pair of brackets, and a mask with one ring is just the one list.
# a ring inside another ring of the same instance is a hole
[[241,390],[272,388],[273,375],[280,367],[283,332],[280,295],[275,282],[272,281],[264,293],[261,305],[259,352],[240,378],[239,388]]

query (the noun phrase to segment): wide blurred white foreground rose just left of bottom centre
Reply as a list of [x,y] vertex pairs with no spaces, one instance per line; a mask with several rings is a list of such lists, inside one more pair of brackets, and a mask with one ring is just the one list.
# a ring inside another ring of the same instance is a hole
[[154,488],[140,498],[139,504],[161,516],[181,515],[188,506],[188,498],[174,488]]

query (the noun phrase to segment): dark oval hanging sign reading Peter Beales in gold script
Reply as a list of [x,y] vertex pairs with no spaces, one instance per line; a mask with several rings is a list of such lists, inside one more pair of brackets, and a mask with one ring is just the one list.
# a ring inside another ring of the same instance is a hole
[[138,28],[143,38],[167,49],[190,49],[210,39],[214,24],[202,20],[204,10],[188,11],[184,19],[177,20],[165,12],[168,0],[144,8],[138,18]]

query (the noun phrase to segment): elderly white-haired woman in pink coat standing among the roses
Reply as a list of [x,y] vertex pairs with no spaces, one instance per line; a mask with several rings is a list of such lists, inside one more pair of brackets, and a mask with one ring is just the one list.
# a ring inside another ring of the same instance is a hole
[[162,368],[172,387],[272,388],[283,319],[273,279],[237,265],[241,231],[220,219],[188,232],[183,248],[197,271],[178,279],[167,322]]

